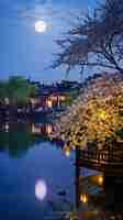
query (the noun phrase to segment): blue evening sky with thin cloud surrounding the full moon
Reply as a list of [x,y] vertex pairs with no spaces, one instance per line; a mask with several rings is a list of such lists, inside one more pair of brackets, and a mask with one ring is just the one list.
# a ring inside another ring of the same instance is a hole
[[[96,7],[96,0],[0,0],[0,78],[23,75],[44,82],[60,80],[65,69],[45,69],[57,52],[55,40],[74,21],[74,14]],[[36,33],[36,21],[47,22],[45,33]],[[72,70],[70,79],[78,79]]]

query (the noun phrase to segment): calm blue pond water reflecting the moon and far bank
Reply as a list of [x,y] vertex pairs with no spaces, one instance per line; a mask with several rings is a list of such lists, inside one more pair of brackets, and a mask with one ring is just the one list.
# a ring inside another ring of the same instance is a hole
[[[51,123],[1,125],[0,219],[75,219],[77,199],[81,200],[78,219],[89,219],[92,213],[96,220],[104,219],[105,212],[88,198],[90,193],[102,190],[102,174],[82,168],[79,185],[75,152],[66,154],[60,145],[52,143],[47,139],[52,129]],[[96,184],[89,180],[92,178]]]

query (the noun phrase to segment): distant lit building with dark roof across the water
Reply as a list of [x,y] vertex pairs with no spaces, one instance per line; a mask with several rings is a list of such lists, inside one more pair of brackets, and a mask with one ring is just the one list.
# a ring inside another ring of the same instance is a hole
[[42,108],[55,108],[62,107],[68,103],[72,92],[79,92],[81,84],[77,81],[66,81],[44,85],[38,81],[30,81],[36,88],[36,97],[31,98],[31,103],[35,107]]

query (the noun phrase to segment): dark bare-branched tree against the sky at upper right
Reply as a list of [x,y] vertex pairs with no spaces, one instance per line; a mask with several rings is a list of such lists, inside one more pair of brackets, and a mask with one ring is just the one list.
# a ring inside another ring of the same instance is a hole
[[75,26],[57,40],[60,52],[53,64],[67,72],[76,66],[108,68],[123,73],[123,0],[105,0],[93,14],[80,14]]

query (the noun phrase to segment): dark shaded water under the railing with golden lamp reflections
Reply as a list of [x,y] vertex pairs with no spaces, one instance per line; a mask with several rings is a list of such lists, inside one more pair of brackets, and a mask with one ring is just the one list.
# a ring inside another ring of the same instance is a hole
[[[97,216],[96,219],[122,219],[123,218],[123,176],[113,176],[104,173],[83,176],[79,166],[79,154],[76,150],[75,191],[76,191],[76,218],[85,219]],[[103,218],[102,218],[103,216]]]

